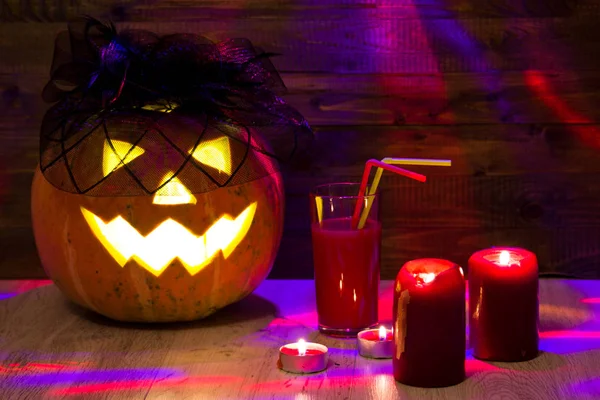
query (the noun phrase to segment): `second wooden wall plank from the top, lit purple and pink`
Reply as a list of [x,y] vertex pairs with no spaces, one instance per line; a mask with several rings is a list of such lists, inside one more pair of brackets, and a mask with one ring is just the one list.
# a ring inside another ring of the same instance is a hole
[[[393,10],[393,9],[392,9]],[[202,11],[199,11],[202,13]],[[323,12],[326,12],[323,11]],[[378,11],[379,12],[379,11]],[[282,72],[450,73],[524,70],[590,70],[599,62],[597,15],[568,18],[414,18],[365,15],[341,19],[287,17],[144,21],[119,29],[158,33],[202,33],[219,40],[248,37],[257,46],[284,55],[274,59]],[[0,73],[45,73],[55,35],[64,23],[7,22],[0,25]],[[577,43],[577,46],[573,46]]]

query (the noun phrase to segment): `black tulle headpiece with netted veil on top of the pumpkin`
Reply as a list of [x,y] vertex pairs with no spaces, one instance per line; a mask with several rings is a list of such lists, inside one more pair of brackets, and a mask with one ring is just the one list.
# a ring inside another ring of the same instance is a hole
[[[117,33],[92,18],[70,25],[56,39],[42,93],[56,104],[42,122],[41,170],[60,189],[90,195],[154,193],[180,175],[198,193],[270,174],[275,160],[289,159],[312,139],[304,117],[280,97],[285,86],[270,56],[246,39]],[[223,136],[228,173],[192,157]],[[119,152],[121,143],[131,147]],[[118,174],[100,166],[107,145],[120,156]],[[136,147],[152,157],[126,163]]]

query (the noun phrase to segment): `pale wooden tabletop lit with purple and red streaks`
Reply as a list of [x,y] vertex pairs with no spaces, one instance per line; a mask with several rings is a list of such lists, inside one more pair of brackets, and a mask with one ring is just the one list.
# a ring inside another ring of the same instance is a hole
[[[390,321],[392,283],[381,284]],[[313,281],[266,281],[205,320],[116,323],[68,303],[49,281],[0,281],[0,399],[594,399],[600,398],[600,281],[542,280],[540,356],[486,363],[468,354],[454,387],[396,383],[390,360],[316,330]],[[443,334],[441,332],[440,334]],[[330,349],[325,372],[276,368],[304,337]]]

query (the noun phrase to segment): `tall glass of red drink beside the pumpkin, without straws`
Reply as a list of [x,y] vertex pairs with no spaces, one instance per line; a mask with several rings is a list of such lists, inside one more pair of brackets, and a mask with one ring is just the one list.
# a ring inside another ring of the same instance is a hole
[[321,332],[355,336],[377,323],[381,222],[372,208],[375,218],[353,228],[354,207],[344,202],[355,205],[356,198],[330,202],[324,196],[327,211],[311,225],[317,313]]

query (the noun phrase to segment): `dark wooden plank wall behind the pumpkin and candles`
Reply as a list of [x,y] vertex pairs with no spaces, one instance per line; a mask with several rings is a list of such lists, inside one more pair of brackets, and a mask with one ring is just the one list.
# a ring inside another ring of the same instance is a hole
[[286,171],[272,277],[312,276],[307,193],[371,157],[436,157],[386,176],[382,277],[405,261],[536,252],[544,273],[600,278],[600,4],[585,0],[0,0],[0,276],[40,277],[29,186],[53,39],[80,14],[119,29],[244,36],[309,119]]

